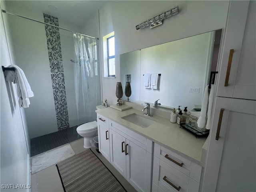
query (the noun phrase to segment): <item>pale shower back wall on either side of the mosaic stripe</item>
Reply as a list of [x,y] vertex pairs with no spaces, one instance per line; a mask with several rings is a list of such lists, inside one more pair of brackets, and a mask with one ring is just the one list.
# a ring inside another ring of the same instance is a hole
[[[16,6],[15,1],[6,1],[6,6],[6,10],[10,12],[44,21],[42,12]],[[8,23],[10,24],[10,36],[14,47],[13,64],[20,66],[24,70],[31,89],[34,92],[34,97],[30,98],[29,108],[25,109],[30,138],[56,132],[58,131],[58,127],[44,24],[7,14],[4,17],[8,19]],[[58,19],[58,21],[59,26],[63,28],[80,31],[79,26],[61,19]],[[71,32],[60,30],[60,34],[63,35],[61,41],[67,40],[64,36],[70,36],[72,38]],[[73,41],[70,38],[68,42],[63,42],[63,44],[73,48]],[[67,57],[69,58],[69,56]],[[66,59],[66,55],[64,58]],[[73,58],[72,56],[70,59]],[[70,59],[65,65],[70,64]],[[70,73],[73,75],[72,71]],[[72,104],[70,105],[72,106]],[[71,120],[75,118],[72,116],[72,113],[73,111],[69,113]],[[73,123],[71,124],[73,125]]]

